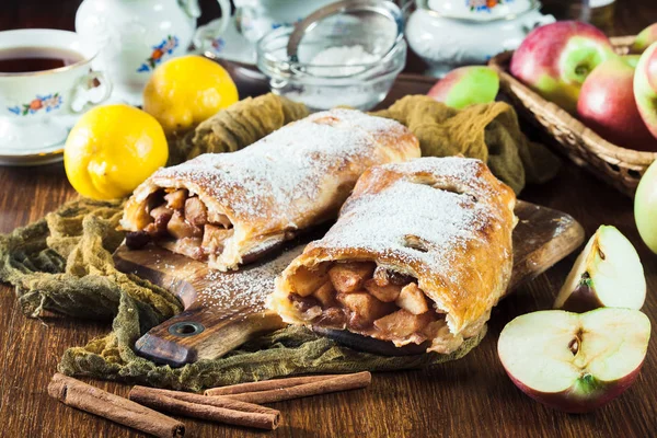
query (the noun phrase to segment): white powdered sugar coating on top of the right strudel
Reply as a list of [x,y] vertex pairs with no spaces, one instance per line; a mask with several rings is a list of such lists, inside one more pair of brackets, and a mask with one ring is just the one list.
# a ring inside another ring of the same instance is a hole
[[[431,274],[458,284],[463,274],[456,265],[458,254],[466,254],[466,245],[484,244],[477,234],[498,221],[498,206],[482,201],[491,187],[474,177],[482,165],[479,160],[423,158],[373,169],[359,182],[362,193],[347,200],[337,223],[312,246],[420,262]],[[462,193],[450,192],[453,186]]]

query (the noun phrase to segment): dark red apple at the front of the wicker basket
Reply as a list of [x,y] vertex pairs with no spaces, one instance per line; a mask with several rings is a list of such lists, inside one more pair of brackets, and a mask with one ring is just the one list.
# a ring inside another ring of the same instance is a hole
[[657,139],[644,123],[634,99],[638,56],[613,57],[586,78],[577,115],[603,139],[624,148],[657,151]]

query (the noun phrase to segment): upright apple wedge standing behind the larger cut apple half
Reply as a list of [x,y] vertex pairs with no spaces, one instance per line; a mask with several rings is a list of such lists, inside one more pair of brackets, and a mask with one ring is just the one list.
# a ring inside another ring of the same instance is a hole
[[636,250],[615,227],[601,226],[577,257],[554,308],[641,309],[645,299],[646,277]]

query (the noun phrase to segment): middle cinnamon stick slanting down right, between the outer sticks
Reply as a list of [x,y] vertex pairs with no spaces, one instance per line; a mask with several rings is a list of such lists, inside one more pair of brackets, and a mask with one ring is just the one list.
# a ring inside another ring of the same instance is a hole
[[128,399],[157,411],[164,411],[193,418],[226,423],[235,426],[256,427],[267,430],[274,430],[278,427],[279,416],[276,414],[233,411],[212,406],[210,404],[191,403],[168,395],[158,394],[153,391],[143,391],[142,389],[143,387],[132,388],[128,394]]

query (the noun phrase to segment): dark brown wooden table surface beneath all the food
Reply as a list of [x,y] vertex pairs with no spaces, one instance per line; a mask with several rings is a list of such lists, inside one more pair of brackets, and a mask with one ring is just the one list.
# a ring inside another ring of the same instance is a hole
[[[3,4],[0,30],[71,28],[78,0],[11,1]],[[206,2],[208,3],[208,2]],[[206,20],[207,21],[207,18]],[[657,21],[657,3],[619,0],[615,34],[636,33]],[[425,92],[429,83],[405,78],[394,95]],[[71,199],[61,164],[0,168],[0,232],[26,224]],[[646,272],[644,312],[657,322],[657,255],[641,242],[632,201],[569,162],[522,199],[566,211],[590,235],[598,226],[616,226],[636,246]],[[281,427],[272,433],[186,420],[195,437],[650,437],[657,431],[657,342],[643,371],[620,399],[588,415],[552,411],[522,394],[505,374],[496,344],[504,325],[519,314],[548,309],[574,256],[522,287],[493,311],[481,346],[465,358],[430,370],[377,373],[367,390],[276,403]],[[67,407],[48,397],[46,385],[66,348],[84,345],[110,331],[108,322],[64,318],[31,320],[13,291],[0,286],[0,425],[7,437],[138,437],[125,427]],[[93,384],[126,395],[129,387]]]

